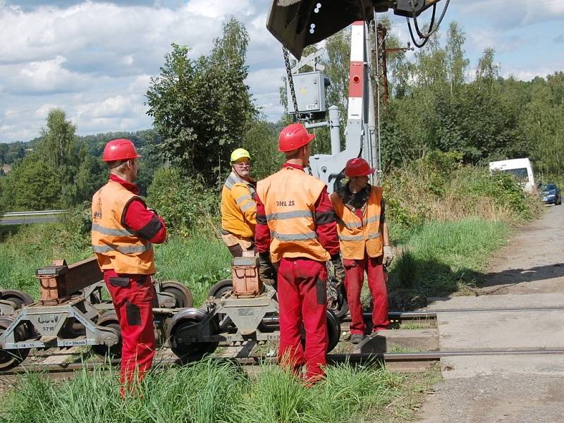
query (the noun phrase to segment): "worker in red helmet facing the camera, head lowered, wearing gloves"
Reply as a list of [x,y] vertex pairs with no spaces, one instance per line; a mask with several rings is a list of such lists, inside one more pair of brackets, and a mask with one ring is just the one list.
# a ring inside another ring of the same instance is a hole
[[394,256],[384,219],[382,188],[368,183],[375,170],[364,159],[350,159],[345,165],[348,183],[331,194],[345,266],[352,343],[360,343],[366,330],[360,302],[365,271],[372,293],[372,332],[390,324],[385,266],[391,264]]

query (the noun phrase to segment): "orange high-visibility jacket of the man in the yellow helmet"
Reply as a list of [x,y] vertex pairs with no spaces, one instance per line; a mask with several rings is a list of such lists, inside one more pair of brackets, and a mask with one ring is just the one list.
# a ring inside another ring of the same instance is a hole
[[257,203],[252,183],[231,172],[221,190],[221,229],[245,238],[255,237]]

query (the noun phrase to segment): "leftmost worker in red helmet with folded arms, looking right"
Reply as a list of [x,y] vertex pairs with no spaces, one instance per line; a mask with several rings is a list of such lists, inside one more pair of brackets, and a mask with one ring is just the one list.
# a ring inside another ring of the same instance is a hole
[[92,198],[92,248],[121,328],[122,396],[133,391],[133,382],[145,376],[154,357],[152,244],[166,238],[164,220],[141,200],[133,183],[139,157],[130,140],[108,142],[102,160],[109,181]]

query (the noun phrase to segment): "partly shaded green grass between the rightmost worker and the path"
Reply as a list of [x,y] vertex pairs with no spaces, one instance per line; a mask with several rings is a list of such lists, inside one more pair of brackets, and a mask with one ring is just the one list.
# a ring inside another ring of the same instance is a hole
[[472,288],[510,233],[505,223],[479,218],[419,226],[400,246],[390,271],[390,290],[437,296]]

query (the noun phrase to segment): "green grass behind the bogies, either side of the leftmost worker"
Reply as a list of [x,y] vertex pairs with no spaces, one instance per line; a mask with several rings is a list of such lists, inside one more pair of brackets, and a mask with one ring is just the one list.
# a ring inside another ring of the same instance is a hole
[[[61,223],[8,226],[0,232],[0,241],[0,287],[23,290],[34,298],[39,295],[36,269],[53,259],[71,264],[93,255],[90,234],[69,233]],[[231,255],[216,238],[174,237],[155,245],[155,263],[159,280],[185,283],[200,305],[210,286],[229,277]]]

